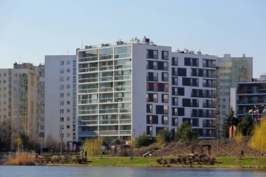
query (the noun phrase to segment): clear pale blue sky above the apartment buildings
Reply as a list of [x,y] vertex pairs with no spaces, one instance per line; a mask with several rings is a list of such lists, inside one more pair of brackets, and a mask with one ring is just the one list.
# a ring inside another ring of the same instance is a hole
[[[0,68],[76,54],[85,45],[151,38],[172,50],[253,57],[253,77],[266,73],[263,0],[0,0]],[[20,59],[21,58],[21,59]]]

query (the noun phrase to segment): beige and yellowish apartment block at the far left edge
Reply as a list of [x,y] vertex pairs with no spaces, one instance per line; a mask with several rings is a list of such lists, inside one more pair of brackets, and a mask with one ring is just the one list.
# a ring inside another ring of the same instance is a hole
[[40,67],[15,63],[13,69],[0,69],[0,121],[8,125],[11,149],[15,137],[26,134],[38,141]]

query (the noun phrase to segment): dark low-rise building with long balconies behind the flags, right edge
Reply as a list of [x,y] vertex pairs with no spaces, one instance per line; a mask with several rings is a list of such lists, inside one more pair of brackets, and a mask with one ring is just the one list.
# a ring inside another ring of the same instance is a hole
[[236,83],[231,104],[235,107],[237,117],[248,112],[253,118],[265,115],[262,112],[266,108],[266,76]]

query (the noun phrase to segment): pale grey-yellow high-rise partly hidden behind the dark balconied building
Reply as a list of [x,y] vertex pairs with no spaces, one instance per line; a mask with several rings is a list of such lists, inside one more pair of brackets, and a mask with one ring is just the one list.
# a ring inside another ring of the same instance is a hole
[[[217,77],[217,120],[223,125],[223,120],[230,111],[230,88],[241,80],[251,80],[253,77],[253,58],[231,57],[225,54],[216,58]],[[221,127],[221,126],[220,126]]]

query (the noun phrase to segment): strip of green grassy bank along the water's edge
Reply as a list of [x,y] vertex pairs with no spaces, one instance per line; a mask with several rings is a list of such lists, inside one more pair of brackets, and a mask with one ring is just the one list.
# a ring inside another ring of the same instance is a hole
[[[87,167],[190,167],[189,164],[158,164],[156,162],[157,157],[135,157],[130,160],[128,157],[87,157],[88,162],[85,164],[67,164],[75,166],[87,166]],[[169,160],[169,157],[162,158],[163,160]],[[266,157],[245,157],[239,160],[237,157],[218,157],[217,163],[210,164],[197,164],[193,163],[192,167],[201,168],[266,168]],[[62,165],[62,164],[51,164]],[[64,165],[64,164],[63,164]]]

